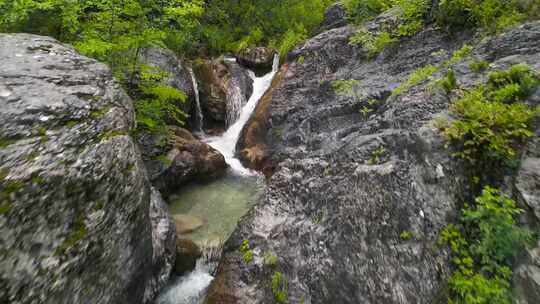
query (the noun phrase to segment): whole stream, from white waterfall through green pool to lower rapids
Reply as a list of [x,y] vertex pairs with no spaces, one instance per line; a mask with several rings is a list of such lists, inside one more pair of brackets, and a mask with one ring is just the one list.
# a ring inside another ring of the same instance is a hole
[[[245,105],[232,109],[236,121],[225,133],[217,137],[204,137],[203,141],[225,157],[229,170],[225,177],[208,184],[191,184],[171,196],[172,215],[200,219],[204,225],[182,238],[194,241],[203,252],[195,270],[182,277],[171,278],[171,283],[157,300],[157,304],[202,303],[207,287],[213,280],[214,271],[221,256],[221,247],[236,228],[238,220],[256,203],[264,189],[263,178],[245,168],[235,157],[236,144],[242,129],[248,122],[259,100],[272,84],[279,68],[279,56],[274,58],[272,71],[253,78],[253,94]],[[239,111],[239,113],[238,113]],[[202,117],[200,122],[202,123]]]

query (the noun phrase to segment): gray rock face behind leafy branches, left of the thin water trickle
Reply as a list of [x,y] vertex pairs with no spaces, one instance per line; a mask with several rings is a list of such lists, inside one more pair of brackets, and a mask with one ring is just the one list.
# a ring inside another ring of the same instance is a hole
[[186,102],[178,106],[191,117],[195,117],[195,90],[189,70],[185,62],[178,58],[173,51],[162,48],[148,48],[141,51],[141,61],[148,66],[158,68],[168,76],[163,83],[182,90],[187,95]]

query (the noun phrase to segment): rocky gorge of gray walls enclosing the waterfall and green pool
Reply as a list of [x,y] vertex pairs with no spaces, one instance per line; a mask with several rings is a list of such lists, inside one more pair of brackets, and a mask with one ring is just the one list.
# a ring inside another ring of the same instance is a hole
[[[490,72],[540,71],[540,22],[488,37],[429,25],[377,56],[357,32],[333,5],[281,62],[143,50],[186,95],[186,125],[161,134],[136,130],[105,65],[0,34],[0,303],[446,303],[439,234],[474,186],[440,121]],[[457,90],[435,85],[449,71]],[[538,231],[534,131],[497,183]],[[540,302],[540,243],[512,280],[515,303]]]

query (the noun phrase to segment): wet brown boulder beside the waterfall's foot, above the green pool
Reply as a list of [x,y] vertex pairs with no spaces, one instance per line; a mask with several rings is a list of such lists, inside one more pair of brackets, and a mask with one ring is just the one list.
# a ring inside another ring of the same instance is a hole
[[227,170],[217,150],[186,129],[170,126],[170,133],[142,132],[137,136],[152,184],[165,196],[191,181],[210,181]]

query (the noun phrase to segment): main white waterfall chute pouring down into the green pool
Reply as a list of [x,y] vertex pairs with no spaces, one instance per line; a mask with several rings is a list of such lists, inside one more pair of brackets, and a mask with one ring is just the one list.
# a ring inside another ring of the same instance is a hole
[[272,84],[272,80],[279,69],[279,56],[274,58],[272,71],[262,77],[255,77],[254,73],[250,73],[253,78],[253,94],[249,98],[246,105],[242,108],[240,116],[229,129],[219,137],[208,138],[207,143],[214,149],[218,150],[225,157],[225,162],[231,167],[232,172],[240,175],[254,175],[255,173],[245,168],[239,159],[235,157],[236,144],[240,138],[242,129],[248,122],[259,100]]

